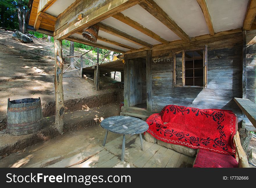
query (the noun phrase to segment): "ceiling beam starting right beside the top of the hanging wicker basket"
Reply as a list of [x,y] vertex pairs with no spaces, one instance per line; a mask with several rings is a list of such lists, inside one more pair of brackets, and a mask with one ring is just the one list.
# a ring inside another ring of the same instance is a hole
[[118,31],[118,30],[114,29],[113,27],[107,26],[107,25],[102,24],[102,23],[98,23],[98,24],[99,24],[99,29],[106,32],[106,33],[109,33],[111,35],[115,35],[117,37],[128,40],[128,41],[133,42],[135,44],[138,44],[140,46],[145,46],[145,47],[150,48],[150,49],[153,47],[151,44],[148,44],[148,43],[146,43],[142,40],[139,40],[139,39],[137,39],[135,37],[132,37],[130,35],[127,35],[125,33],[122,33],[121,31]]

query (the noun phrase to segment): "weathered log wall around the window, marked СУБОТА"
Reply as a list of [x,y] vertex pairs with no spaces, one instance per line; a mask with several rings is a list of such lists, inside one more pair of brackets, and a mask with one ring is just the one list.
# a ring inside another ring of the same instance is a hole
[[[207,44],[207,88],[173,87],[173,53],[204,49]],[[152,111],[175,104],[195,108],[241,110],[233,101],[242,97],[242,33],[187,42],[152,50]]]

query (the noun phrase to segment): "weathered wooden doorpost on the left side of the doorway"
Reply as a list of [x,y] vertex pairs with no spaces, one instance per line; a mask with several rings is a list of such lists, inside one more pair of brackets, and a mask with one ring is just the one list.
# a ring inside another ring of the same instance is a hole
[[124,54],[124,107],[129,107],[129,93],[130,93],[130,77],[129,77],[129,62],[127,58],[127,54]]

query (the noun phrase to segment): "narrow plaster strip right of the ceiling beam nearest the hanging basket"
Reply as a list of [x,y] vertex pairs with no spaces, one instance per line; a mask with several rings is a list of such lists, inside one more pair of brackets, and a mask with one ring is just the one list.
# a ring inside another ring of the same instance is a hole
[[111,26],[123,33],[126,33],[128,35],[131,35],[137,39],[140,39],[144,42],[147,42],[148,44],[161,44],[161,42],[145,35],[144,33],[141,33],[140,31],[132,28],[131,26],[128,26],[127,24],[120,22],[119,20],[113,18],[113,17],[109,17],[107,19],[104,19],[101,21],[103,24],[106,24],[108,26]]

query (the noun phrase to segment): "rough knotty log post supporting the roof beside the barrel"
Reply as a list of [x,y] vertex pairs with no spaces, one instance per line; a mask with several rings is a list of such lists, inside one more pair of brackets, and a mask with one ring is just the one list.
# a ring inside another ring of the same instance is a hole
[[64,118],[64,94],[62,86],[62,74],[63,65],[62,60],[62,41],[54,40],[55,47],[55,97],[56,97],[56,116],[55,116],[55,126],[59,133],[62,134],[63,131],[63,118]]

